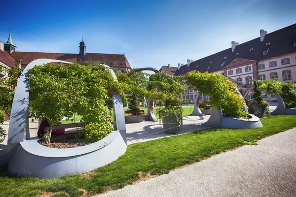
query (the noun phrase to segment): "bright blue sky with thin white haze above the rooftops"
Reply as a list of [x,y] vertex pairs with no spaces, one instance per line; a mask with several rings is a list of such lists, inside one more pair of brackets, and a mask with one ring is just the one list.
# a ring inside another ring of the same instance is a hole
[[296,23],[295,0],[3,0],[17,51],[125,53],[132,67],[198,60]]

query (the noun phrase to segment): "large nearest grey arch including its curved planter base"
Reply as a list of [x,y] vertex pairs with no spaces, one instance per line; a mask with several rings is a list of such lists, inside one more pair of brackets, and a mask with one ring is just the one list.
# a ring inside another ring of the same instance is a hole
[[[23,71],[13,99],[8,131],[8,171],[22,176],[56,178],[64,174],[78,174],[115,161],[126,151],[126,129],[121,98],[113,94],[114,128],[102,140],[90,145],[55,149],[37,143],[39,138],[28,138],[28,110],[30,84],[28,70],[35,65],[69,62],[38,59],[31,62]],[[105,65],[106,66],[106,65]],[[107,66],[109,67],[109,66]],[[111,70],[116,79],[114,72]]]

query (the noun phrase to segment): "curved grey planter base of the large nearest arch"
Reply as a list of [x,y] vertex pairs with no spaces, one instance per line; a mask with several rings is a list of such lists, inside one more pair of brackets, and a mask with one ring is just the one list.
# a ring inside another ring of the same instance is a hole
[[115,161],[126,150],[119,131],[113,131],[93,144],[67,149],[42,146],[38,139],[20,143],[8,165],[10,172],[49,179],[65,174],[80,174]]

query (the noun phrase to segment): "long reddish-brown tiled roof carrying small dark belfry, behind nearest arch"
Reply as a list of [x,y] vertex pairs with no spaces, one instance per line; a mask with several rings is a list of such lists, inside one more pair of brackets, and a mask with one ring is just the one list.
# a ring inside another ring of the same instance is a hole
[[21,66],[24,68],[33,60],[40,58],[53,59],[53,60],[63,60],[67,62],[78,62],[84,63],[87,62],[98,62],[101,61],[103,64],[111,67],[128,67],[129,65],[125,55],[121,54],[104,54],[104,53],[86,53],[85,56],[80,56],[79,54],[71,53],[40,53],[40,52],[18,52],[14,51],[11,54],[11,57],[15,61],[21,61]]

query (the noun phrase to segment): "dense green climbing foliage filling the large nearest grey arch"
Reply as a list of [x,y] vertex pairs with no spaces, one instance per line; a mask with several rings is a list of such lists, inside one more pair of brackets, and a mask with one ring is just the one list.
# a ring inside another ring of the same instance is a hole
[[47,119],[52,126],[63,117],[81,115],[88,141],[98,141],[113,130],[106,100],[112,92],[122,98],[126,95],[110,69],[103,65],[45,64],[28,73],[32,117]]

